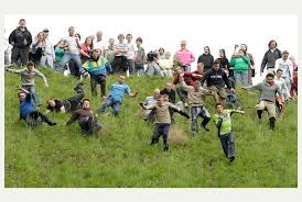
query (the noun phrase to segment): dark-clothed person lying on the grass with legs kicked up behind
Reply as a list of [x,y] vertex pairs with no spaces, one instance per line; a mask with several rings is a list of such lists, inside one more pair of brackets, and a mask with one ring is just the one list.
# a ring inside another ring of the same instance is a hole
[[64,99],[64,100],[57,100],[54,98],[50,98],[46,103],[46,113],[48,112],[74,112],[80,108],[80,101],[85,97],[84,89],[83,89],[83,82],[78,83],[74,90],[76,91],[76,96]]

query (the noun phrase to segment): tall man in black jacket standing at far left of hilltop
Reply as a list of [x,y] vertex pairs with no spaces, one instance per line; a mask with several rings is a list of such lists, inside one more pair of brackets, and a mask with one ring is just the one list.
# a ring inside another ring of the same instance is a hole
[[30,46],[32,44],[32,35],[26,29],[24,19],[19,21],[19,27],[9,36],[9,43],[13,46],[11,50],[11,63],[17,64],[21,59],[22,66],[29,61]]

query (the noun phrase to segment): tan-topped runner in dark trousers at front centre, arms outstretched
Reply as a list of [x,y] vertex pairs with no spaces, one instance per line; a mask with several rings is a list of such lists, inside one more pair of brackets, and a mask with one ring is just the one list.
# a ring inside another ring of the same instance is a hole
[[180,108],[175,106],[174,104],[170,102],[164,101],[164,96],[159,96],[158,102],[152,105],[145,105],[142,102],[140,103],[141,108],[143,110],[153,110],[155,113],[155,126],[151,139],[151,145],[158,144],[160,136],[163,138],[163,150],[166,152],[169,149],[169,130],[171,125],[171,115],[169,108],[172,108],[176,111],[181,111]]

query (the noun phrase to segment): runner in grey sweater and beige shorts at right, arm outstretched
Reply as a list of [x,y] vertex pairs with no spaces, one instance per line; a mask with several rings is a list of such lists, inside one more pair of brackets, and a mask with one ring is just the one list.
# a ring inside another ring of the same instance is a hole
[[251,87],[242,87],[245,90],[259,90],[260,98],[257,105],[258,122],[261,123],[261,116],[263,110],[268,111],[270,132],[274,130],[276,122],[276,94],[278,93],[283,99],[283,92],[274,82],[274,75],[269,72],[266,76],[266,80]]

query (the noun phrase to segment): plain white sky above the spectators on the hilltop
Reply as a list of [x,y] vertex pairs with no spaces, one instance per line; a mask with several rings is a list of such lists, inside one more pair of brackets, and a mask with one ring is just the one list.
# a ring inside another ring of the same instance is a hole
[[234,44],[245,43],[255,58],[257,81],[270,40],[276,40],[281,50],[287,49],[298,58],[295,15],[6,15],[6,36],[22,18],[33,36],[47,27],[53,44],[68,35],[71,25],[80,34],[82,42],[88,35],[95,35],[97,30],[104,32],[105,42],[109,37],[117,42],[119,33],[131,33],[133,40],[141,36],[147,52],[163,47],[175,53],[180,48],[180,40],[184,38],[196,60],[206,45],[214,58],[218,57],[220,48],[225,48],[227,58],[230,58]]

